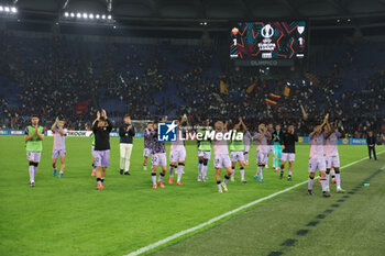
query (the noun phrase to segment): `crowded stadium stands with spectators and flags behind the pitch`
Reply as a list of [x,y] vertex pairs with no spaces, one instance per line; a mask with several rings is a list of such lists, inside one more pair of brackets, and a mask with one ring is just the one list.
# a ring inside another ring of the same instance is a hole
[[38,113],[47,126],[61,115],[85,129],[101,108],[116,122],[124,113],[142,120],[187,113],[191,122],[242,115],[250,125],[296,122],[304,133],[310,125],[300,104],[310,120],[328,112],[350,133],[380,131],[384,120],[383,43],[348,44],[315,70],[282,80],[250,69],[223,71],[213,46],[1,33],[0,119],[8,127],[22,127]]

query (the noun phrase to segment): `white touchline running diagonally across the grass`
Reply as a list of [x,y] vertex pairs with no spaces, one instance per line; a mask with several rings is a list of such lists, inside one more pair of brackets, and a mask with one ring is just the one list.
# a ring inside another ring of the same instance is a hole
[[[380,152],[377,155],[380,155],[380,154],[382,154],[382,153],[384,153],[384,152],[385,152],[385,151]],[[359,159],[359,160],[352,162],[352,163],[350,163],[350,164],[348,164],[348,165],[342,166],[340,169],[344,169],[344,168],[346,168],[346,167],[350,167],[350,166],[352,166],[352,165],[355,165],[355,164],[358,164],[358,163],[360,163],[360,162],[363,162],[363,160],[366,160],[366,159],[369,159],[369,157],[364,157],[364,158],[361,158],[361,159]],[[318,179],[318,178],[319,178],[319,177],[317,177],[316,179]],[[299,186],[302,186],[304,183],[307,183],[307,182],[308,182],[308,181],[305,180],[305,181],[299,182],[299,183],[296,183],[296,185],[294,185],[294,186],[292,186],[292,187],[289,187],[289,188],[286,188],[286,189],[284,189],[284,190],[278,191],[278,192],[275,192],[275,193],[272,193],[272,194],[270,194],[270,196],[267,196],[267,197],[260,198],[260,199],[257,199],[257,200],[255,200],[255,201],[252,201],[252,202],[246,203],[246,204],[244,204],[244,205],[242,205],[242,207],[239,207],[239,208],[237,208],[237,209],[234,209],[234,210],[232,210],[232,211],[229,211],[229,212],[223,213],[223,214],[221,214],[221,215],[219,215],[219,216],[216,216],[216,218],[213,218],[213,219],[211,219],[211,220],[209,220],[209,221],[207,221],[207,222],[204,222],[204,223],[201,223],[201,224],[199,224],[199,225],[193,226],[193,227],[190,227],[190,229],[188,229],[188,230],[180,231],[180,232],[175,233],[174,235],[170,235],[170,236],[168,236],[168,237],[166,237],[166,238],[164,238],[164,240],[161,240],[161,241],[158,241],[158,242],[156,242],[156,243],[153,243],[153,244],[150,244],[150,245],[147,245],[147,246],[144,246],[144,247],[140,248],[140,249],[136,249],[136,251],[134,251],[134,252],[132,252],[132,253],[130,253],[130,254],[128,254],[128,255],[125,255],[125,256],[136,256],[136,255],[143,254],[143,253],[145,253],[145,252],[148,252],[150,249],[156,248],[156,247],[158,247],[158,246],[161,246],[161,245],[164,245],[164,244],[166,244],[166,243],[168,243],[168,242],[170,242],[170,241],[173,241],[173,240],[176,240],[176,238],[178,238],[178,237],[180,237],[180,236],[184,236],[184,235],[186,235],[186,234],[188,234],[188,233],[193,233],[193,232],[195,232],[195,231],[197,231],[197,230],[200,230],[200,229],[202,229],[202,227],[205,227],[205,226],[208,226],[208,225],[210,225],[210,224],[212,224],[212,223],[215,223],[215,222],[217,222],[217,221],[220,221],[220,220],[222,220],[222,219],[224,219],[224,218],[227,218],[227,216],[230,216],[230,215],[232,215],[232,214],[234,214],[234,213],[237,213],[237,212],[239,212],[239,211],[242,211],[242,210],[244,210],[244,209],[246,209],[246,208],[253,207],[253,205],[255,205],[255,204],[257,204],[257,203],[260,203],[260,202],[266,201],[267,199],[274,198],[274,197],[276,197],[276,196],[278,196],[278,194],[280,194],[280,193],[290,191],[290,190],[293,190],[293,189],[295,189],[295,188],[297,188],[297,187],[299,187]]]

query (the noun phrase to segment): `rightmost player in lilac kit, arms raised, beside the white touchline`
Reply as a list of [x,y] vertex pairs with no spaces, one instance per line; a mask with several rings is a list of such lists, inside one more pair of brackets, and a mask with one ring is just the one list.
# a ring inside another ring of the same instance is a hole
[[[329,192],[329,177],[330,169],[333,168],[336,171],[336,182],[337,182],[337,192],[343,193],[344,190],[341,188],[341,177],[340,177],[340,156],[338,153],[338,140],[341,137],[341,133],[339,132],[337,122],[334,123],[334,127],[327,122],[328,132],[327,138],[324,141],[324,156],[327,163],[327,191]],[[341,130],[343,132],[343,127],[340,123]]]

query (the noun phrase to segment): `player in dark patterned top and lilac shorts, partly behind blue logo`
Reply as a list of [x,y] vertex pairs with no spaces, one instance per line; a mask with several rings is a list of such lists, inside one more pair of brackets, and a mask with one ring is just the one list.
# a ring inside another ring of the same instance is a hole
[[[166,120],[165,118],[163,120]],[[166,158],[166,146],[164,142],[160,142],[157,140],[157,123],[158,121],[154,121],[154,130],[151,132],[152,135],[152,158],[151,158],[151,163],[153,165],[153,169],[151,172],[151,178],[153,180],[153,189],[157,188],[157,185],[160,185],[161,188],[164,188],[163,185],[163,178],[166,175],[167,171],[167,158]],[[161,166],[162,170],[161,170],[161,175],[158,180],[156,181],[156,169],[157,167]]]

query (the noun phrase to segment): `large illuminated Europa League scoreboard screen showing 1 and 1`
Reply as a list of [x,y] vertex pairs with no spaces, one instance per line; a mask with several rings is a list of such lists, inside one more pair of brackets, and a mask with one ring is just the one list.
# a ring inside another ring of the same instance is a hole
[[239,22],[230,29],[232,59],[302,59],[307,53],[305,21]]

